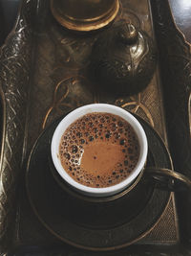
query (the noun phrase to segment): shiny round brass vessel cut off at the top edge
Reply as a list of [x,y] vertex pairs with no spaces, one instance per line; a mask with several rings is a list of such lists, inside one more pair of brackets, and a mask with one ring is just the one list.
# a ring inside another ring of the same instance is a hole
[[117,16],[118,0],[51,0],[55,19],[74,31],[93,31],[108,25]]

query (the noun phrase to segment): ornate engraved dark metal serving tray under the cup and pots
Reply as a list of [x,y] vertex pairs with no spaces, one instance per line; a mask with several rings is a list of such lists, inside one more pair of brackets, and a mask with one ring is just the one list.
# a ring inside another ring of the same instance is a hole
[[120,1],[117,19],[146,31],[159,50],[158,68],[148,87],[138,95],[121,98],[97,93],[86,76],[99,32],[75,35],[63,29],[53,19],[49,4],[23,0],[14,30],[1,48],[0,253],[190,255],[191,199],[183,192],[171,194],[148,234],[112,252],[90,252],[64,244],[34,216],[25,188],[32,146],[55,119],[80,105],[109,103],[138,114],[169,145],[175,169],[191,177],[190,52],[168,1]]

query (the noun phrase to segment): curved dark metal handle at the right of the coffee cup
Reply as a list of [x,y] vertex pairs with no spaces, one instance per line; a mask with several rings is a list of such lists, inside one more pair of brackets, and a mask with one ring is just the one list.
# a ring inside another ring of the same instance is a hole
[[191,179],[185,175],[174,172],[165,168],[149,167],[145,168],[144,174],[151,178],[159,189],[164,189],[172,192],[190,190]]

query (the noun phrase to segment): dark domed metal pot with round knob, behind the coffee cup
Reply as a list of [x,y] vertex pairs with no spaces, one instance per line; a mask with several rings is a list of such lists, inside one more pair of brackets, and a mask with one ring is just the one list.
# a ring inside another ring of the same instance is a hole
[[120,20],[97,38],[92,52],[91,74],[101,89],[132,95],[151,81],[156,62],[152,38]]

